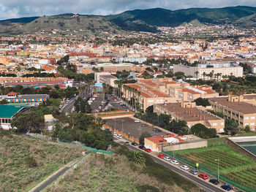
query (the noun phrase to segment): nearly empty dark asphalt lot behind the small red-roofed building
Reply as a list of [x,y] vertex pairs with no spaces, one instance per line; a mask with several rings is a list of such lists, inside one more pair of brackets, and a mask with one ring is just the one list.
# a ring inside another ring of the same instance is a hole
[[135,137],[136,139],[139,139],[140,135],[146,131],[152,136],[168,134],[167,131],[153,131],[153,128],[155,128],[155,126],[148,126],[143,122],[135,123],[135,120],[132,118],[113,118],[108,120],[106,125],[110,126],[111,128],[115,128],[118,131],[122,131],[132,137]]

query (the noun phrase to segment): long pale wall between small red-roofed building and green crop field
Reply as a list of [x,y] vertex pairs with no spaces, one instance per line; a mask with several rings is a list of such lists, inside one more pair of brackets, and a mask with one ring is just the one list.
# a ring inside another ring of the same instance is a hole
[[169,150],[188,150],[188,149],[195,149],[200,147],[207,147],[208,143],[206,139],[195,140],[193,142],[184,142],[178,145],[170,145],[166,147],[162,147],[163,151]]

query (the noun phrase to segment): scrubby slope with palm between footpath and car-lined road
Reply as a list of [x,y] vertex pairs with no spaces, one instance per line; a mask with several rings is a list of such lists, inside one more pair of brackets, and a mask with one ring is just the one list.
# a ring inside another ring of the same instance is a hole
[[121,145],[113,150],[116,153],[112,156],[87,155],[78,169],[48,191],[200,191],[195,184],[155,163],[149,155]]

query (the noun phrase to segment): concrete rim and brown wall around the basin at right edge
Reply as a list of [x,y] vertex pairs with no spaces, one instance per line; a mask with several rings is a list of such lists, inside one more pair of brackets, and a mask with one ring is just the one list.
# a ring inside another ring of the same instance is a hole
[[[249,150],[246,150],[244,147],[241,147],[240,145],[238,145],[236,142],[250,142],[252,140],[248,140],[248,138],[226,138],[225,139],[225,144],[231,148],[233,148],[233,150],[236,150],[238,153],[241,153],[243,155],[246,155],[249,158],[252,158],[252,160],[256,161],[256,155],[249,152]],[[253,140],[255,141],[255,139]]]

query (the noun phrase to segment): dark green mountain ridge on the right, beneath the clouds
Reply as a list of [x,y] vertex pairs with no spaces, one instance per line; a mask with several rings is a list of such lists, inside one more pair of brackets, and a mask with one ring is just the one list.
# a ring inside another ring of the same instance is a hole
[[[141,21],[149,26],[180,26],[183,23],[190,23],[198,20],[200,23],[234,23],[236,20],[248,17],[256,13],[256,7],[224,7],[224,8],[191,8],[178,9],[135,9],[122,12],[118,15],[108,15],[106,18],[123,27],[124,23]],[[256,23],[254,24],[256,26]]]

